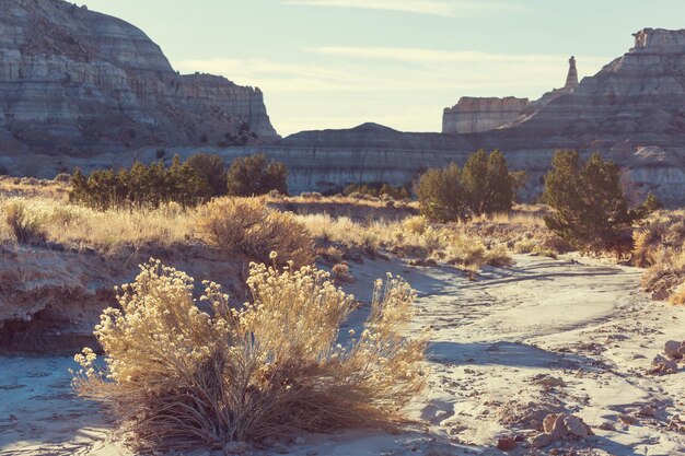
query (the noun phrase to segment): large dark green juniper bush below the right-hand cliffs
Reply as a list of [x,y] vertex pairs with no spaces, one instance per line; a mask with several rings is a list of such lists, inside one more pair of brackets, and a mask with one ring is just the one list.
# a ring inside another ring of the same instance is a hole
[[631,248],[630,229],[655,207],[649,197],[629,209],[619,166],[599,153],[583,162],[576,151],[555,153],[544,198],[555,211],[545,218],[547,226],[574,247],[591,252]]

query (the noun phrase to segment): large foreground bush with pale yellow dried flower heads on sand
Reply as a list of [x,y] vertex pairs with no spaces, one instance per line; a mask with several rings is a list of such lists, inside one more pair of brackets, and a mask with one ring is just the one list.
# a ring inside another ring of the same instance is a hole
[[104,365],[89,350],[76,356],[77,390],[108,406],[147,449],[402,420],[425,383],[425,338],[403,335],[416,295],[406,282],[376,282],[371,314],[345,346],[338,332],[353,296],[326,272],[253,264],[247,284],[252,300],[235,311],[206,283],[205,313],[193,279],[151,260],[95,329]]

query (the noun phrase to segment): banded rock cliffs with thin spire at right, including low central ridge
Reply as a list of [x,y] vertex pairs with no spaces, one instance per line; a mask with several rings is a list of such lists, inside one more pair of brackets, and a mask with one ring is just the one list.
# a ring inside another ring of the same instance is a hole
[[292,166],[291,186],[299,191],[370,180],[407,184],[426,167],[463,164],[478,149],[499,149],[511,168],[529,172],[527,198],[542,190],[541,177],[557,149],[577,149],[585,156],[600,151],[624,166],[632,183],[630,197],[652,191],[667,206],[682,206],[685,31],[639,32],[632,49],[578,85],[573,70],[574,59],[562,89],[492,130],[403,133],[364,125],[297,133],[266,151]]

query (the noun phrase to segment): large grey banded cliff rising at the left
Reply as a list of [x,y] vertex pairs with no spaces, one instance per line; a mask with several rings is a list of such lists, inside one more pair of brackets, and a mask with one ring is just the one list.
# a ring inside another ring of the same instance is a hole
[[83,154],[277,138],[258,89],[179,75],[135,26],[61,0],[0,0],[0,147]]

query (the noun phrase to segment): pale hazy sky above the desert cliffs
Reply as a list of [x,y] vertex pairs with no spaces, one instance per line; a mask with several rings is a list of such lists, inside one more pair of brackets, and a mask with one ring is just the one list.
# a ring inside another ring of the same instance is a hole
[[260,87],[286,136],[375,121],[439,131],[460,96],[527,96],[591,75],[683,0],[88,0],[156,42],[175,69]]

